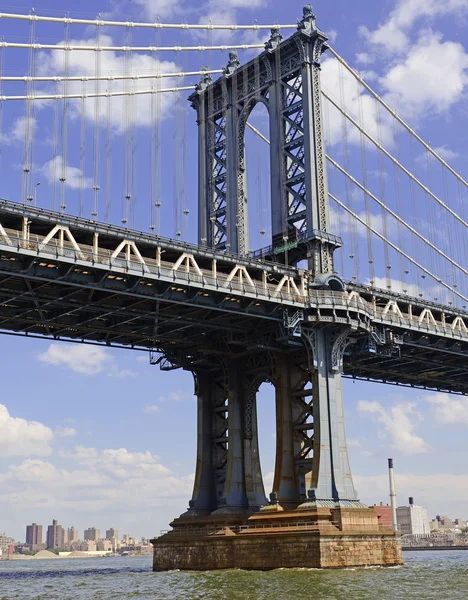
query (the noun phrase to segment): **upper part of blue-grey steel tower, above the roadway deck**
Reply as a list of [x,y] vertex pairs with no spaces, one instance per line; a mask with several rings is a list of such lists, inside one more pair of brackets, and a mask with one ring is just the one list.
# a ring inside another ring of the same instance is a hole
[[[240,66],[231,52],[224,75],[203,77],[190,100],[199,124],[199,243],[240,255],[249,251],[245,128],[253,108],[270,117],[271,214],[283,262],[308,259],[314,273],[333,272],[339,241],[329,234],[323,152],[320,59],[327,38],[310,7],[285,41],[272,30],[265,52]],[[280,256],[278,256],[278,259]]]

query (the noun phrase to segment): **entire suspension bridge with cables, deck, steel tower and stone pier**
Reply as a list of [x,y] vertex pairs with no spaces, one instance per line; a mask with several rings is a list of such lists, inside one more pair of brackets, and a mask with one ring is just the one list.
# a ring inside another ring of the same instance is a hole
[[297,25],[11,21],[0,331],[193,373],[194,492],[154,568],[399,564],[352,482],[341,380],[468,392],[468,182],[309,5]]

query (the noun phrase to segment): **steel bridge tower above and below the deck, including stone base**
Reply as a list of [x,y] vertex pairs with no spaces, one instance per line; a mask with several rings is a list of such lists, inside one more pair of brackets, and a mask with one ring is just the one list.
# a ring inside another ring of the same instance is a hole
[[[326,42],[307,5],[290,38],[283,41],[272,30],[265,51],[245,65],[231,52],[222,77],[215,82],[202,77],[190,97],[198,122],[199,243],[249,254],[244,137],[249,115],[261,102],[269,113],[272,190],[272,245],[262,257],[286,268],[304,266],[307,285],[324,296],[344,292],[333,264],[341,240],[331,231],[322,132],[320,64]],[[200,367],[192,361],[187,368],[198,397],[194,491],[189,510],[172,523],[173,532],[154,541],[155,569],[401,562],[394,534],[379,531],[350,472],[341,376],[343,355],[357,334],[333,315],[285,311],[284,327],[268,346],[252,343],[239,354],[235,342],[222,350],[213,345],[196,361]],[[256,393],[263,381],[276,390],[270,503],[257,440]],[[273,536],[275,528],[298,521],[309,528],[296,540]],[[259,537],[258,526],[270,528],[269,542]],[[341,544],[335,554],[333,540]],[[300,548],[308,544],[307,556]]]

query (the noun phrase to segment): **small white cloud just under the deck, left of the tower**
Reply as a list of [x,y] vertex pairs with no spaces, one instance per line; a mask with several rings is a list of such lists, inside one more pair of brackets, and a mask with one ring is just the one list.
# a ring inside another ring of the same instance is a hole
[[54,366],[66,366],[75,373],[96,375],[101,373],[111,362],[111,357],[99,346],[66,345],[53,343],[38,355],[41,362]]

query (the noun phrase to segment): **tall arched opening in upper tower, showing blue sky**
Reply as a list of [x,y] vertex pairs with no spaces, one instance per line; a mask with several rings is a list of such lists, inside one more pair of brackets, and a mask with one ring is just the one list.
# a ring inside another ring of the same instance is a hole
[[[271,245],[270,116],[259,101],[248,115],[244,132],[244,197],[248,250]],[[246,165],[249,165],[248,167]]]

